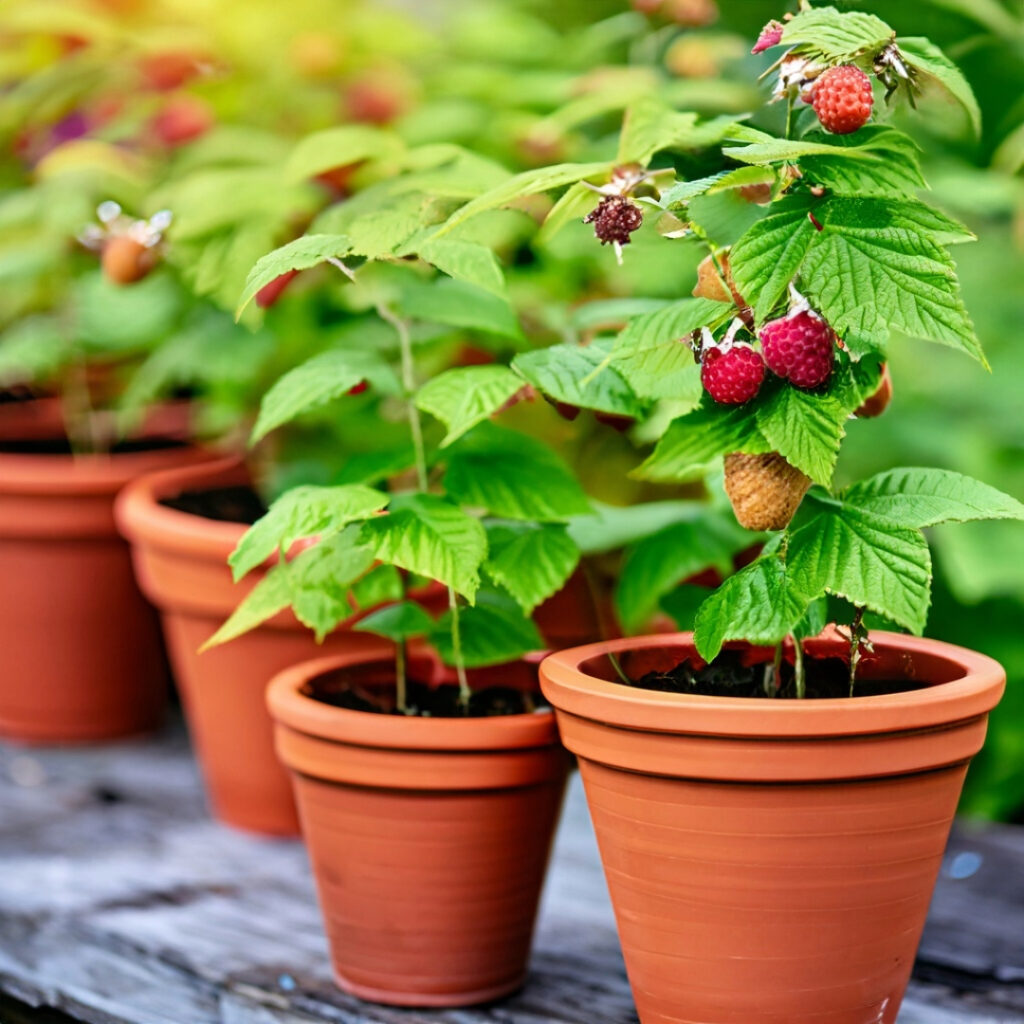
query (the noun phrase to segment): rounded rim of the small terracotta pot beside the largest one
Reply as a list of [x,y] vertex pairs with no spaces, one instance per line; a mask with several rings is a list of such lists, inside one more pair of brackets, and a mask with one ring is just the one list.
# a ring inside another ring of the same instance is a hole
[[493,718],[419,718],[374,715],[323,703],[301,693],[310,680],[337,669],[390,658],[337,654],[285,669],[270,680],[266,702],[280,726],[357,746],[413,751],[500,751],[550,746],[558,742],[554,709]]

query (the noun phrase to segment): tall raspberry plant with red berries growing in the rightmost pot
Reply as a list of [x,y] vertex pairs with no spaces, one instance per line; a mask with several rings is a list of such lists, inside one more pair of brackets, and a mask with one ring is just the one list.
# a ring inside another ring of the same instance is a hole
[[[523,195],[569,186],[549,214],[550,234],[587,212],[591,189],[639,168],[631,173],[645,185],[633,198],[648,223],[705,247],[715,272],[694,298],[635,315],[613,337],[524,353],[513,368],[553,401],[641,421],[636,436],[655,443],[634,470],[640,478],[703,479],[725,457],[738,518],[771,536],[697,609],[699,653],[710,660],[729,640],[795,639],[802,694],[799,641],[839,617],[852,693],[870,616],[925,627],[932,568],[923,530],[1024,517],[1016,500],[940,470],[894,469],[830,489],[850,419],[872,399],[884,404],[876,395],[889,386],[890,344],[931,341],[987,366],[950,254],[973,236],[920,198],[916,146],[889,120],[893,108],[938,94],[977,129],[978,106],[940,50],[897,38],[873,15],[804,3],[766,27],[760,51],[780,53],[769,73],[781,133],[700,121],[648,97],[628,111],[613,163],[520,175],[473,199],[436,237]],[[718,169],[686,179],[681,158],[696,152],[706,162],[717,153]],[[757,352],[759,339],[773,371],[764,383],[756,386],[749,355],[746,372],[737,361],[720,381],[730,352]]]

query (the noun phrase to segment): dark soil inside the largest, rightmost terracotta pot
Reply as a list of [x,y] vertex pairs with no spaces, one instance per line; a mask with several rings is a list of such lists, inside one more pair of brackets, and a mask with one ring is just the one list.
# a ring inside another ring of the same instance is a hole
[[[805,656],[806,698],[828,699],[850,695],[850,666],[842,657]],[[632,685],[666,693],[692,693],[716,697],[762,697],[769,700],[797,699],[793,663],[779,666],[779,685],[771,680],[771,660],[752,658],[743,651],[724,650],[711,665],[686,660],[668,671],[647,672]],[[766,685],[766,678],[768,684]],[[855,696],[905,693],[929,685],[915,679],[858,679]]]

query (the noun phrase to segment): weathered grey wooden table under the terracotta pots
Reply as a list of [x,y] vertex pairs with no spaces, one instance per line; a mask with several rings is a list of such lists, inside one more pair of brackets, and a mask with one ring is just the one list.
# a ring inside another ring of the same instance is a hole
[[[343,995],[327,964],[301,845],[210,821],[180,728],[94,750],[0,745],[0,992],[23,1004],[90,1024],[636,1021],[578,779],[518,995],[390,1010]],[[0,1024],[26,1019],[4,1007]],[[899,1024],[1009,1022],[1024,1022],[1024,828],[965,825]]]

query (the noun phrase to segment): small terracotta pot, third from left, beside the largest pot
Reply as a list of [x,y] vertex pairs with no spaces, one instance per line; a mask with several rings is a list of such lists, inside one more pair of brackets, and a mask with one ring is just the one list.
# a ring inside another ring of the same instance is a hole
[[338,984],[419,1007],[514,991],[564,791],[554,716],[402,718],[304,694],[338,670],[394,682],[389,660],[349,656],[290,669],[267,690]]

